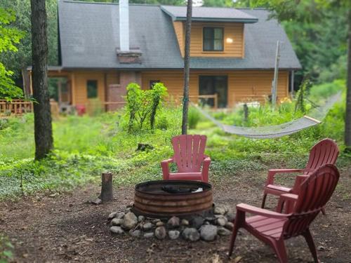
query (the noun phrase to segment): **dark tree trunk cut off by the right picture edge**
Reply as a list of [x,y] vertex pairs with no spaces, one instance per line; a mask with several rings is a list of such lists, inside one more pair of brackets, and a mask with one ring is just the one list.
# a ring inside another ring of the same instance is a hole
[[347,43],[347,95],[345,117],[345,146],[351,150],[351,11],[348,12],[348,43]]

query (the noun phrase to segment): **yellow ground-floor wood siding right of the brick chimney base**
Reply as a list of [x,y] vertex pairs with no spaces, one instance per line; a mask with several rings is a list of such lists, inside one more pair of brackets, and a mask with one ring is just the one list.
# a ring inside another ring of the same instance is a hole
[[[273,71],[230,71],[230,72],[201,72],[190,73],[190,96],[199,95],[199,76],[228,77],[228,107],[235,103],[248,100],[264,102],[265,96],[270,95]],[[178,99],[183,95],[183,71],[154,71],[142,72],[142,87],[149,88],[150,80],[159,79],[168,88],[169,95]],[[289,96],[289,72],[279,72],[278,100]]]

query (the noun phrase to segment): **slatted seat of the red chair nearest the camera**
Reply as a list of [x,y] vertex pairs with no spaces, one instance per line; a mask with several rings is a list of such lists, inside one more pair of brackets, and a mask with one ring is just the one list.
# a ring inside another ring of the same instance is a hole
[[262,215],[246,218],[246,224],[248,224],[253,231],[257,231],[260,234],[270,236],[275,239],[279,239],[280,236],[282,236],[285,222],[286,219],[264,217]]

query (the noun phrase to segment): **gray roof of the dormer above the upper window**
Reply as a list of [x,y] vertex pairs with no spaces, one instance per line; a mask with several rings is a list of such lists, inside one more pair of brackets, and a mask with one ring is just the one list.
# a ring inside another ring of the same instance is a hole
[[[161,6],[173,20],[186,20],[186,6]],[[192,21],[257,22],[257,18],[234,8],[197,7],[192,8]]]

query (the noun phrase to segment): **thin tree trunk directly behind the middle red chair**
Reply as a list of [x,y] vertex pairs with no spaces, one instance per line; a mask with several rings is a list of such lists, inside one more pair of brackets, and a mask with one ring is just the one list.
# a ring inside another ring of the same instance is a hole
[[185,24],[184,52],[184,93],[182,134],[187,134],[187,112],[189,108],[189,75],[190,75],[190,33],[192,27],[192,0],[187,0],[187,22]]

